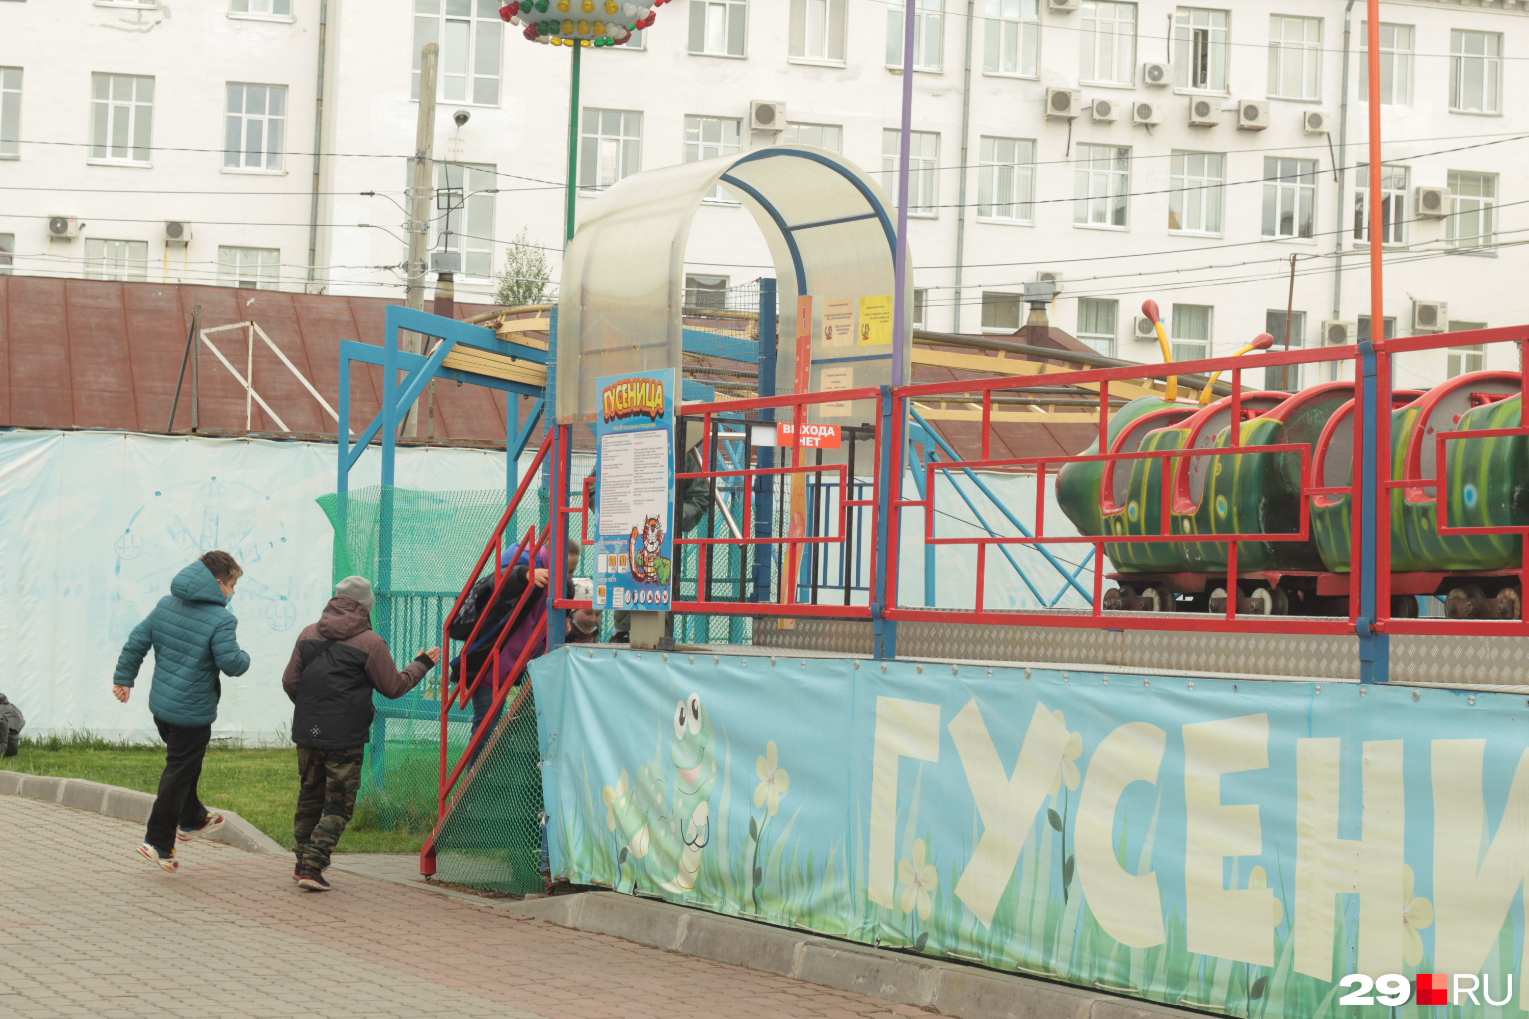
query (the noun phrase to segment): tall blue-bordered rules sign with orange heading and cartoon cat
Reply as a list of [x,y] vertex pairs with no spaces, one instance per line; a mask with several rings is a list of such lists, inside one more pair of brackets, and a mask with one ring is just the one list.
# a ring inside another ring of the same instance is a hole
[[596,380],[595,608],[670,605],[674,385],[673,368]]

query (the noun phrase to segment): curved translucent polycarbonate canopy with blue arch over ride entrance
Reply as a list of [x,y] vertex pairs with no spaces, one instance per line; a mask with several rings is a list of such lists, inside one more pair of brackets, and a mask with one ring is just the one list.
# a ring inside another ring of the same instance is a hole
[[[685,244],[696,209],[717,185],[754,215],[775,264],[781,322],[777,393],[790,393],[795,377],[797,295],[813,298],[813,338],[823,336],[827,301],[858,304],[861,298],[891,295],[891,203],[836,153],[772,145],[633,174],[593,203],[563,260],[560,422],[595,417],[595,379],[601,376],[680,367]],[[904,365],[913,341],[911,273],[905,289]],[[891,348],[858,342],[826,348],[815,339],[810,390],[830,388],[823,382],[824,371],[833,373],[832,388],[893,382]],[[872,402],[859,402],[827,420],[858,425],[870,422],[873,412]]]

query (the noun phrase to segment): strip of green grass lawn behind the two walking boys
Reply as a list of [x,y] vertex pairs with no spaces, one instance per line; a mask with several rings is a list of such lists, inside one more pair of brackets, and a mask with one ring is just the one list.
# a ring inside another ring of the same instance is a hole
[[[0,759],[0,768],[28,775],[89,779],[144,793],[159,788],[165,750],[159,746],[116,744],[86,735],[72,739],[21,739],[21,752]],[[297,749],[211,747],[197,787],[208,807],[237,811],[281,845],[292,848],[297,805]],[[339,852],[419,852],[424,833],[382,831],[370,811],[358,810]]]

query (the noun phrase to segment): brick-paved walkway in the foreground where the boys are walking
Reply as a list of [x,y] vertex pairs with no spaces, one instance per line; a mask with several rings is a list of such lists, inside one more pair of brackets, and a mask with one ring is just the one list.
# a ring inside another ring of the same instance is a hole
[[18,796],[0,831],[0,1016],[924,1016],[338,866],[303,892],[216,843],[164,874],[141,827]]

